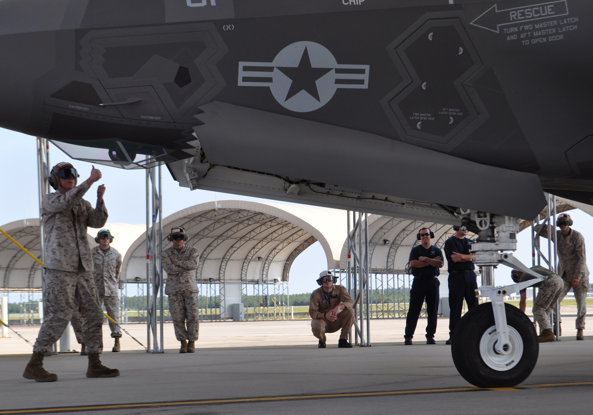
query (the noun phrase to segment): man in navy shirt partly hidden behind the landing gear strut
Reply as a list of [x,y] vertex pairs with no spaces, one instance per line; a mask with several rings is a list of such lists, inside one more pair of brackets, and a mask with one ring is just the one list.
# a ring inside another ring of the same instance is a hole
[[445,241],[445,257],[447,257],[447,266],[449,272],[449,340],[455,330],[455,326],[461,320],[461,309],[463,308],[463,299],[466,299],[467,308],[472,309],[478,305],[476,290],[478,284],[476,273],[474,273],[473,259],[475,254],[470,254],[471,245],[474,243],[466,238],[467,229],[463,230],[460,226],[453,226],[455,235]]

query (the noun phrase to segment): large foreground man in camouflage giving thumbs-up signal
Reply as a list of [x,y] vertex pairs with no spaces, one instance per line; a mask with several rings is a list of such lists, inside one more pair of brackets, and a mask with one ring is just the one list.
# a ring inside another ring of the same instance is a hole
[[49,183],[55,193],[42,200],[41,216],[45,232],[46,315],[33,347],[33,356],[24,378],[37,382],[58,380],[43,368],[43,356],[52,353],[53,343],[62,336],[76,307],[82,314],[82,334],[88,347],[87,378],[113,378],[117,369],[101,365],[103,351],[103,311],[93,280],[93,258],[87,240],[87,226],[100,228],[107,221],[103,204],[105,186],[97,189],[95,209],[82,199],[101,172],[93,167],[91,176],[76,186],[78,173],[72,164],[62,162],[52,168]]

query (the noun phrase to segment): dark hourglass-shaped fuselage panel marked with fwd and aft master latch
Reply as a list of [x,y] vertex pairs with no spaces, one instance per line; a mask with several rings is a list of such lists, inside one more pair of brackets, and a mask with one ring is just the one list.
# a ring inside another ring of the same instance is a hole
[[448,143],[479,115],[463,82],[482,63],[463,26],[429,20],[393,46],[409,83],[389,101],[391,110],[406,135]]

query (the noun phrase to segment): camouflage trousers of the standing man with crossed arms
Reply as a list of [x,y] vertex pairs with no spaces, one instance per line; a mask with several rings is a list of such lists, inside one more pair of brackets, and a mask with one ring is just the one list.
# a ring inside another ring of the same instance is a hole
[[198,299],[197,292],[169,294],[169,312],[173,317],[175,336],[179,341],[197,340],[200,331]]

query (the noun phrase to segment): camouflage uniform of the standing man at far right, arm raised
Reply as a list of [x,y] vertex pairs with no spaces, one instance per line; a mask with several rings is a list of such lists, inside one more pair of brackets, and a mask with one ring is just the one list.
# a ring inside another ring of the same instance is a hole
[[[547,235],[547,225],[544,225],[541,234]],[[543,235],[542,235],[543,236]],[[589,292],[589,269],[586,264],[585,238],[575,229],[570,229],[568,235],[562,231],[556,231],[558,244],[558,275],[564,280],[562,301],[566,293],[572,288],[576,299],[576,328],[585,328],[585,316],[587,313],[587,293]],[[572,286],[572,280],[578,278],[579,285]]]

